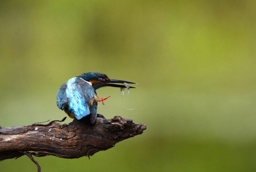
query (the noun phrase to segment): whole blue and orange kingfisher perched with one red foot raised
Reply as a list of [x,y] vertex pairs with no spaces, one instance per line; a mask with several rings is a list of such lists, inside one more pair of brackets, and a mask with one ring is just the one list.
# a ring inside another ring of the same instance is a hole
[[83,73],[61,85],[57,92],[57,106],[69,117],[77,120],[91,115],[90,121],[93,124],[97,117],[98,102],[104,105],[104,100],[110,97],[99,98],[96,89],[106,86],[126,88],[125,85],[111,83],[136,84],[130,81],[109,79],[107,75],[100,72]]

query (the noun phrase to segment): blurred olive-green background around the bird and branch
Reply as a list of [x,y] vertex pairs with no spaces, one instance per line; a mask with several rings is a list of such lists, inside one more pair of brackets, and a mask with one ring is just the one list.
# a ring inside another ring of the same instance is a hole
[[[0,125],[62,119],[60,85],[98,71],[138,83],[123,96],[134,110],[101,88],[111,98],[98,113],[147,129],[90,160],[36,157],[42,171],[256,171],[255,10],[253,0],[1,0]],[[36,170],[26,156],[0,162]]]

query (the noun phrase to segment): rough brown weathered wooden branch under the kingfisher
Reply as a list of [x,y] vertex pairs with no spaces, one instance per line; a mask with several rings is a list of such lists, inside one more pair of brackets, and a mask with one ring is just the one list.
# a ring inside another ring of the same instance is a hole
[[[97,116],[95,124],[88,119],[73,120],[69,124],[57,121],[26,126],[0,127],[0,161],[27,155],[53,155],[62,158],[92,156],[96,152],[114,147],[116,143],[142,134],[146,125],[115,116],[106,120]],[[29,151],[29,152],[28,152]],[[32,160],[33,161],[33,160]],[[34,163],[37,163],[36,161]]]

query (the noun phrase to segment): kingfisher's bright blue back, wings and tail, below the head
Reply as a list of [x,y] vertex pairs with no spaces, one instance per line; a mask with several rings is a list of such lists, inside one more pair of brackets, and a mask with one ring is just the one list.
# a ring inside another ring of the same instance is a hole
[[[64,85],[64,86],[63,86]],[[91,114],[91,123],[97,115],[97,102],[94,101],[93,87],[85,80],[74,77],[63,84],[57,93],[57,105],[77,120]]]

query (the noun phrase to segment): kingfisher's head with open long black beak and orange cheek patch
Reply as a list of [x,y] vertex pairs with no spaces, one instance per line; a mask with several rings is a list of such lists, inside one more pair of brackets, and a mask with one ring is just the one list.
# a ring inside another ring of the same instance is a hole
[[[88,72],[81,74],[78,76],[87,82],[90,82],[94,90],[101,88],[101,87],[118,87],[118,88],[126,88],[125,85],[118,85],[118,84],[112,84],[112,83],[127,83],[127,84],[136,84],[134,82],[130,81],[124,81],[124,80],[117,80],[117,79],[109,79],[107,75],[102,74],[100,72]],[[130,88],[136,88],[136,87],[130,87]]]

